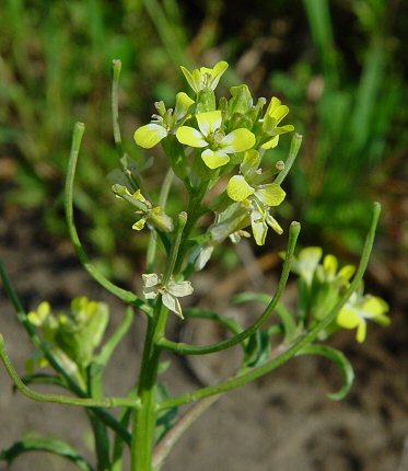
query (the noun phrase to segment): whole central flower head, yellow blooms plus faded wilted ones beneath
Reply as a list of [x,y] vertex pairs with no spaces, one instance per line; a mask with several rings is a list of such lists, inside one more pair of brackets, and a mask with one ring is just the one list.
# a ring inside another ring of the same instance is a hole
[[[265,152],[278,146],[279,137],[294,129],[292,125],[281,125],[289,108],[273,96],[264,110],[267,100],[254,101],[246,84],[232,87],[229,100],[218,100],[214,91],[228,67],[224,61],[212,69],[201,67],[191,72],[182,67],[195,95],[177,93],[174,110],[166,108],[163,102],[155,103],[152,120],[133,136],[144,149],[161,143],[174,174],[185,184],[190,203],[195,202],[191,206],[196,214],[213,212],[213,223],[203,234],[190,239],[189,254],[185,253],[189,255],[185,263],[194,269],[201,269],[214,246],[225,239],[238,242],[241,237],[250,237],[248,227],[258,245],[265,244],[268,228],[283,232],[271,208],[285,197],[280,184],[273,181],[284,169],[263,169],[261,163]],[[220,189],[218,195],[214,188]],[[210,191],[212,198],[207,205]],[[162,206],[148,200],[140,187],[130,188],[117,181],[113,192],[136,207],[138,220],[133,229],[147,226],[159,232],[174,231],[173,219]],[[198,219],[195,214],[188,217]],[[161,295],[163,303],[183,317],[177,297],[193,291],[189,284],[171,279],[164,286],[155,274],[143,275],[143,282],[147,299]]]

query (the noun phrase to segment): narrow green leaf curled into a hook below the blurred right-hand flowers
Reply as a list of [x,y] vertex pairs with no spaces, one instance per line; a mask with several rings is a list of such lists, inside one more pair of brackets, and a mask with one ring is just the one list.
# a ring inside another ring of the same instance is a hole
[[327,345],[306,345],[298,352],[298,355],[319,355],[334,361],[341,369],[343,384],[337,392],[330,392],[327,397],[334,401],[340,401],[346,398],[354,380],[354,371],[350,361],[341,352]]

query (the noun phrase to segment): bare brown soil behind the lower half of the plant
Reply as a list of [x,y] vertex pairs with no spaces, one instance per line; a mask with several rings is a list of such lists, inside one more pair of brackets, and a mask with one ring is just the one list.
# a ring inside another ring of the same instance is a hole
[[[23,305],[32,309],[48,299],[54,307],[63,308],[72,297],[85,295],[108,302],[113,312],[112,329],[117,325],[124,306],[101,290],[81,268],[70,244],[48,242],[36,225],[34,215],[10,208],[0,221],[0,257]],[[377,260],[376,266],[380,265]],[[211,302],[215,305],[212,307],[223,309],[215,296],[220,292],[215,289],[215,275],[200,280],[201,296],[211,292]],[[231,290],[240,289],[236,276],[225,279],[232,279]],[[271,289],[276,283],[275,271],[269,269],[265,279]],[[331,344],[345,352],[355,371],[351,393],[345,400],[333,402],[325,395],[340,383],[336,367],[323,359],[296,358],[215,403],[175,446],[164,470],[407,471],[408,298],[403,278],[393,278],[388,285],[375,282],[382,291],[378,294],[390,303],[393,323],[387,329],[370,325],[363,345],[357,345],[351,332],[341,332],[334,338]],[[174,335],[177,325],[175,319]],[[32,346],[3,292],[0,331],[10,357],[23,374]],[[124,394],[136,378],[143,331],[144,321],[137,317],[113,358],[106,377],[107,394]],[[172,367],[163,378],[176,394],[198,388],[201,381],[215,380],[223,374],[219,369],[223,369],[224,363],[233,363],[234,358],[213,355],[207,365],[172,359]],[[36,389],[53,391],[49,386]],[[59,436],[90,456],[92,438],[90,432],[84,432],[88,428],[83,412],[35,403],[13,393],[3,368],[0,368],[0,449],[27,432],[40,432]],[[5,469],[0,466],[1,471]],[[9,469],[69,471],[75,468],[49,455],[31,453]]]

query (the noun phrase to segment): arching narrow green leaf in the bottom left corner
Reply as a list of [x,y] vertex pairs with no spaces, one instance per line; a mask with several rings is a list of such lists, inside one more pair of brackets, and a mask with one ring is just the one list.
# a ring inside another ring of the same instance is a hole
[[73,461],[82,471],[93,471],[91,464],[66,441],[48,437],[26,437],[0,452],[0,459],[11,464],[20,455],[27,451],[48,451]]

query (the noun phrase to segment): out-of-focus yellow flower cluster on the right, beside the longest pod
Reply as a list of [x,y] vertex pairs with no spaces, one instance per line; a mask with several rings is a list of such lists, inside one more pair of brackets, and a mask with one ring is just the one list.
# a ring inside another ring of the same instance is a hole
[[[305,323],[320,321],[340,299],[350,286],[355,267],[345,265],[338,269],[334,255],[325,255],[318,246],[308,246],[300,251],[294,260],[292,271],[300,277],[299,295],[301,318]],[[357,329],[357,341],[364,342],[366,321],[371,320],[381,325],[388,325],[386,315],[388,305],[376,296],[364,295],[363,285],[354,291],[337,315],[336,324],[325,333],[331,333],[337,328]]]

